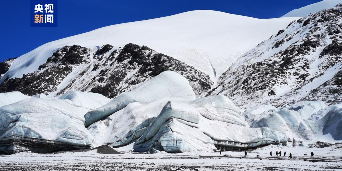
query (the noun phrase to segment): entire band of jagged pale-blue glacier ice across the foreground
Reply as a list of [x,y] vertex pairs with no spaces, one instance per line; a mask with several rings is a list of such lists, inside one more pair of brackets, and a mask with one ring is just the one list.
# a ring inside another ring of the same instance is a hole
[[189,81],[174,71],[114,99],[78,91],[21,97],[0,107],[0,153],[101,145],[133,145],[135,152],[201,153],[301,146],[323,135],[342,141],[342,104],[302,101],[241,109],[224,95],[196,97]]

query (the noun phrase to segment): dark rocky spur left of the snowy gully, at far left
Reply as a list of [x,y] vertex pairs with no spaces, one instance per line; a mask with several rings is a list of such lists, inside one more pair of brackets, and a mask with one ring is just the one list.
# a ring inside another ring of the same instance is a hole
[[89,49],[77,45],[63,47],[54,52],[36,72],[22,78],[5,80],[0,91],[20,91],[27,95],[54,92],[58,84],[82,62],[83,56],[87,53]]

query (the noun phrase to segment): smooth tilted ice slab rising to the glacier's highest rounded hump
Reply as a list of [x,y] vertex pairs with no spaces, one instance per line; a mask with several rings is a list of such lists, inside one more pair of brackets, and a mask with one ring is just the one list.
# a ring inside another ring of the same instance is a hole
[[174,71],[164,71],[132,91],[119,95],[110,103],[89,111],[84,115],[86,118],[85,126],[121,110],[129,103],[152,102],[165,97],[196,98],[196,95],[189,86],[188,80],[182,75]]

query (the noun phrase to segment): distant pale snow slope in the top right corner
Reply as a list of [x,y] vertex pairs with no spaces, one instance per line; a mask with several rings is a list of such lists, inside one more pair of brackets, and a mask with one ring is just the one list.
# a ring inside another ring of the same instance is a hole
[[342,0],[323,0],[317,3],[306,5],[299,9],[292,10],[281,17],[304,17],[313,12],[332,8],[339,3],[342,3]]

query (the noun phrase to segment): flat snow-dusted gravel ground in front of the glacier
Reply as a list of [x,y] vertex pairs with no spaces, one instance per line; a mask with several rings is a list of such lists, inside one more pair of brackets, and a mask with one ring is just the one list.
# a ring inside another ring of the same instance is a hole
[[[126,149],[125,149],[126,148]],[[62,154],[20,153],[0,156],[0,170],[342,170],[341,146],[334,147],[265,147],[248,152],[203,154],[126,154],[103,155],[96,150]],[[269,157],[272,150],[286,152],[286,157]],[[310,158],[314,152],[315,158]],[[292,153],[293,158],[288,158]],[[303,156],[304,153],[308,156]],[[257,155],[260,155],[257,157]]]

